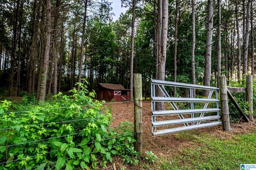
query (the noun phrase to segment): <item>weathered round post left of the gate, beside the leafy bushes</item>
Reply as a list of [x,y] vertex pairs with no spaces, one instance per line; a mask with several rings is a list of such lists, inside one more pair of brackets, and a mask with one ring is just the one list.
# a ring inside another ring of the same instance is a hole
[[134,74],[134,149],[142,155],[142,76]]

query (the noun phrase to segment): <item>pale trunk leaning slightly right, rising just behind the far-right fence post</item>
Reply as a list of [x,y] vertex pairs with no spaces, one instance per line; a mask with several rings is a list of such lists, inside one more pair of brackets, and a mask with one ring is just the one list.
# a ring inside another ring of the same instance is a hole
[[243,58],[244,58],[244,68],[243,74],[248,73],[248,47],[249,47],[249,35],[250,35],[250,14],[251,14],[251,3],[252,0],[248,0],[247,3],[247,10],[246,10],[246,28],[245,28],[245,35],[243,41]]

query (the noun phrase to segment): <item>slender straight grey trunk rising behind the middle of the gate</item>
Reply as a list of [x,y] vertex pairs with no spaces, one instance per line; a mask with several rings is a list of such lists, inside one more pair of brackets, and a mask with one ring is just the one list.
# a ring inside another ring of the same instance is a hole
[[[195,68],[195,47],[196,47],[196,14],[194,0],[191,0],[192,8],[192,48],[191,48],[191,71],[192,71],[192,83],[196,84],[196,68]],[[193,88],[193,96],[196,91]]]

